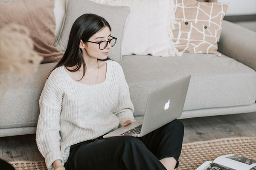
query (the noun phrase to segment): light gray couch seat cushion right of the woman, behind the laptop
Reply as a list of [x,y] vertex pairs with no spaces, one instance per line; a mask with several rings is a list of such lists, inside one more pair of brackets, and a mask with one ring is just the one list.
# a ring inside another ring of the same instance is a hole
[[[256,72],[225,55],[189,54],[182,57],[123,56],[134,116],[143,115],[148,93],[191,74],[184,111],[251,105],[256,100]],[[206,113],[207,114],[207,113]]]

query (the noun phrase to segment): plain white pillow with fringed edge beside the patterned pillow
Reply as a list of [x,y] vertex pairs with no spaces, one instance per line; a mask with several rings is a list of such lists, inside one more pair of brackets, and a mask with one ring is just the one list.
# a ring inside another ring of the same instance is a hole
[[130,8],[122,34],[122,55],[151,54],[170,57],[182,54],[172,41],[175,21],[173,0],[94,0],[94,2]]

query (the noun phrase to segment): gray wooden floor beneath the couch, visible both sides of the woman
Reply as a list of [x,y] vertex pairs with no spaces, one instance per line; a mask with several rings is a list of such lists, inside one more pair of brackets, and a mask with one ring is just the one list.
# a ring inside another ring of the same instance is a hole
[[[238,136],[256,137],[256,112],[181,119],[185,126],[183,143]],[[44,160],[35,134],[0,137],[0,159],[6,161]]]

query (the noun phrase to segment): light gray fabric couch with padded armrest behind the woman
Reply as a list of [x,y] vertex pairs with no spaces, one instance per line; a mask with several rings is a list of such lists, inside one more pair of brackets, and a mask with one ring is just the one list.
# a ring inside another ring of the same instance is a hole
[[[182,57],[123,56],[119,64],[130,88],[136,119],[143,116],[150,91],[189,74],[180,119],[256,111],[256,33],[228,21],[223,21],[222,27],[218,42],[221,57],[189,53]],[[0,104],[0,136],[35,133],[38,101],[55,64],[41,64],[34,82],[24,85],[23,91],[7,90]]]

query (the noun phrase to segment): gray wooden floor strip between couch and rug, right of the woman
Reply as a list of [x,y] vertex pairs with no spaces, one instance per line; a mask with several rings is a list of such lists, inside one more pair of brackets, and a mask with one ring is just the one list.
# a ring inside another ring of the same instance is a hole
[[181,119],[183,143],[240,136],[256,137],[256,112]]

